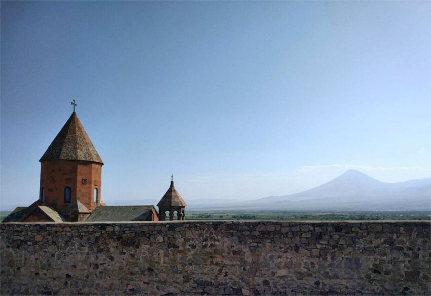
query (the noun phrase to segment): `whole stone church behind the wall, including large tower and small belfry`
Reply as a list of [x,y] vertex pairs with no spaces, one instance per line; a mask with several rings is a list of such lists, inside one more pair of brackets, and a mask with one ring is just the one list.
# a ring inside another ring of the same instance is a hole
[[[184,220],[186,203],[173,184],[157,204],[106,206],[101,199],[103,161],[74,112],[39,160],[39,199],[17,207],[3,222]],[[174,217],[174,213],[177,216]]]

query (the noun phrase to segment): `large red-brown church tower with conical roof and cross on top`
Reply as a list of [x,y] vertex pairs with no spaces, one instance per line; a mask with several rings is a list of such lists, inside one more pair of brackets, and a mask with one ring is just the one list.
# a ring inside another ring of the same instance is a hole
[[41,163],[40,202],[60,211],[79,200],[90,211],[101,205],[103,161],[77,114],[70,115]]

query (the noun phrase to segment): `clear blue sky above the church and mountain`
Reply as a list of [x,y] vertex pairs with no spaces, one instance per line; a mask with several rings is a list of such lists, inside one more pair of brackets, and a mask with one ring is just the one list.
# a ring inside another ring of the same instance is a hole
[[431,2],[1,2],[0,209],[77,102],[101,198],[431,177]]

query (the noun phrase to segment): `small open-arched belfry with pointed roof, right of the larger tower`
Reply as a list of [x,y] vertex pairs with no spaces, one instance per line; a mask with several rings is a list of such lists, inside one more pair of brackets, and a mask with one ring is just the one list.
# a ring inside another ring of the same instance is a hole
[[174,213],[177,212],[177,219],[184,220],[184,208],[187,204],[184,202],[183,198],[176,191],[173,185],[173,175],[171,176],[170,187],[166,191],[165,195],[159,201],[157,206],[159,207],[159,221],[164,221],[166,217],[166,212],[169,212],[169,220],[174,220]]

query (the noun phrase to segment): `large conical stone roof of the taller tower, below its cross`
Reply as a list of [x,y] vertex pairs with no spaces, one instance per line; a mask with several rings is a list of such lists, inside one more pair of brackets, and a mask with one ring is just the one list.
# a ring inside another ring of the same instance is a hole
[[103,165],[75,112],[70,115],[39,161],[46,160],[85,160]]

